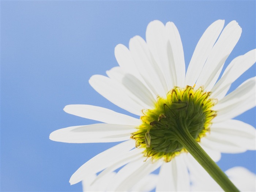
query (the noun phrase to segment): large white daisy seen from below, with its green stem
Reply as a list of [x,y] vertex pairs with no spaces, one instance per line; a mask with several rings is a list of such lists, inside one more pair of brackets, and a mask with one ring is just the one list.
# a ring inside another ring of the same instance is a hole
[[236,21],[223,26],[224,20],[217,20],[206,29],[187,72],[181,38],[172,22],[155,20],[147,26],[146,41],[135,36],[129,49],[116,46],[119,67],[107,71],[108,77],[92,76],[89,83],[140,118],[99,106],[65,106],[67,113],[102,123],[59,129],[50,134],[51,140],[123,141],[82,165],[71,184],[100,172],[96,182],[121,167],[105,191],[128,191],[160,167],[156,191],[190,191],[189,174],[196,172],[189,166],[196,162],[188,161],[191,154],[225,191],[237,191],[214,161],[221,153],[255,150],[255,128],[232,119],[255,107],[255,77],[227,92],[255,63],[256,50],[233,59],[220,77],[242,32]]

